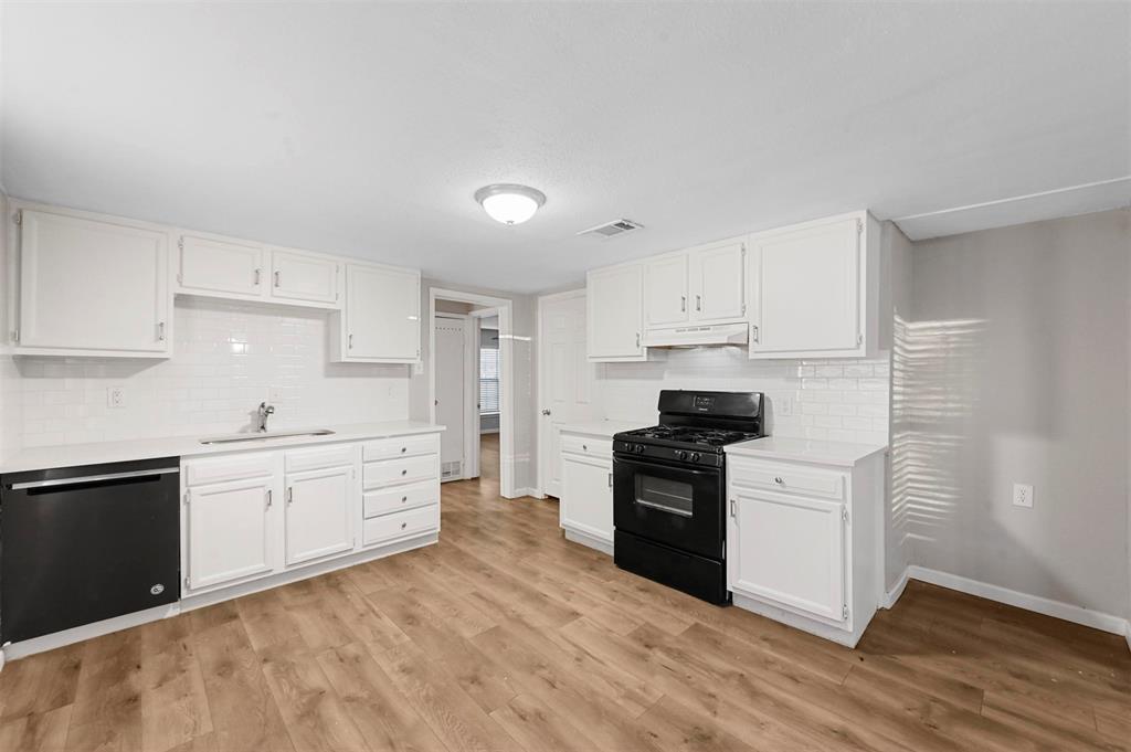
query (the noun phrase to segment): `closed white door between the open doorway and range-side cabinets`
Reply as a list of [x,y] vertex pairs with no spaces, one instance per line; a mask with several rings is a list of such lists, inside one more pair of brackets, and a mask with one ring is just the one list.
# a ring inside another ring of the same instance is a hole
[[544,297],[538,308],[538,477],[543,493],[560,498],[561,426],[598,417],[597,366],[586,357],[585,291]]

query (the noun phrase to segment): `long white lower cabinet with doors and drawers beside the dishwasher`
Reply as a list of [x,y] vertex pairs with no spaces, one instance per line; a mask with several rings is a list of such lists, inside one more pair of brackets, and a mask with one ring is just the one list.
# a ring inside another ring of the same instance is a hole
[[[402,449],[431,453],[402,459]],[[184,459],[183,597],[310,577],[365,547],[385,555],[378,544],[428,543],[440,529],[438,452],[429,433]],[[363,469],[377,481],[363,483]]]

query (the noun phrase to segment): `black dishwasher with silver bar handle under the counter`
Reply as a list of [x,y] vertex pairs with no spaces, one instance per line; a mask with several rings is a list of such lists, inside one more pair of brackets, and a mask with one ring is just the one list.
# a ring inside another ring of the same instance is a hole
[[0,645],[178,600],[179,466],[0,476]]

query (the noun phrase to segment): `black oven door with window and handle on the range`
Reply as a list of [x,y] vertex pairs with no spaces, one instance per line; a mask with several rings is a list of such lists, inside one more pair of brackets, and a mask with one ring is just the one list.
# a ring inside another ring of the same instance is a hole
[[723,468],[613,456],[613,524],[673,548],[723,559]]

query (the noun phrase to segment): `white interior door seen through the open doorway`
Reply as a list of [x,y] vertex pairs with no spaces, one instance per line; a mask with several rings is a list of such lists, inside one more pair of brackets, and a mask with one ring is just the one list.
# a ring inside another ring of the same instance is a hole
[[464,474],[467,427],[464,397],[465,382],[470,377],[465,342],[469,326],[467,317],[442,313],[435,317],[435,422],[446,426],[440,434],[440,467],[444,479],[459,478]]

